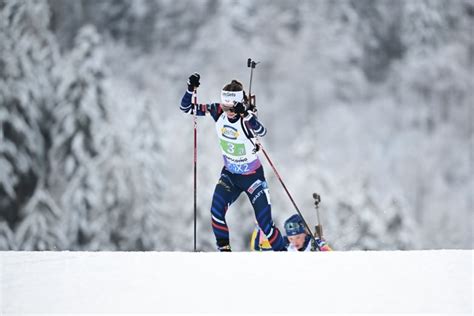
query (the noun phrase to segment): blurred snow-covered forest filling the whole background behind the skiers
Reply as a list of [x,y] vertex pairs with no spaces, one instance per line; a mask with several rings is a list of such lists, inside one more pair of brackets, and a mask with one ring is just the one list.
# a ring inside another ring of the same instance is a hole
[[[471,0],[0,0],[0,250],[193,248],[190,73],[254,72],[262,140],[337,250],[472,249]],[[198,248],[222,168],[198,120]],[[261,155],[262,161],[265,161]],[[264,162],[278,227],[295,213]],[[242,195],[234,250],[254,227]]]

